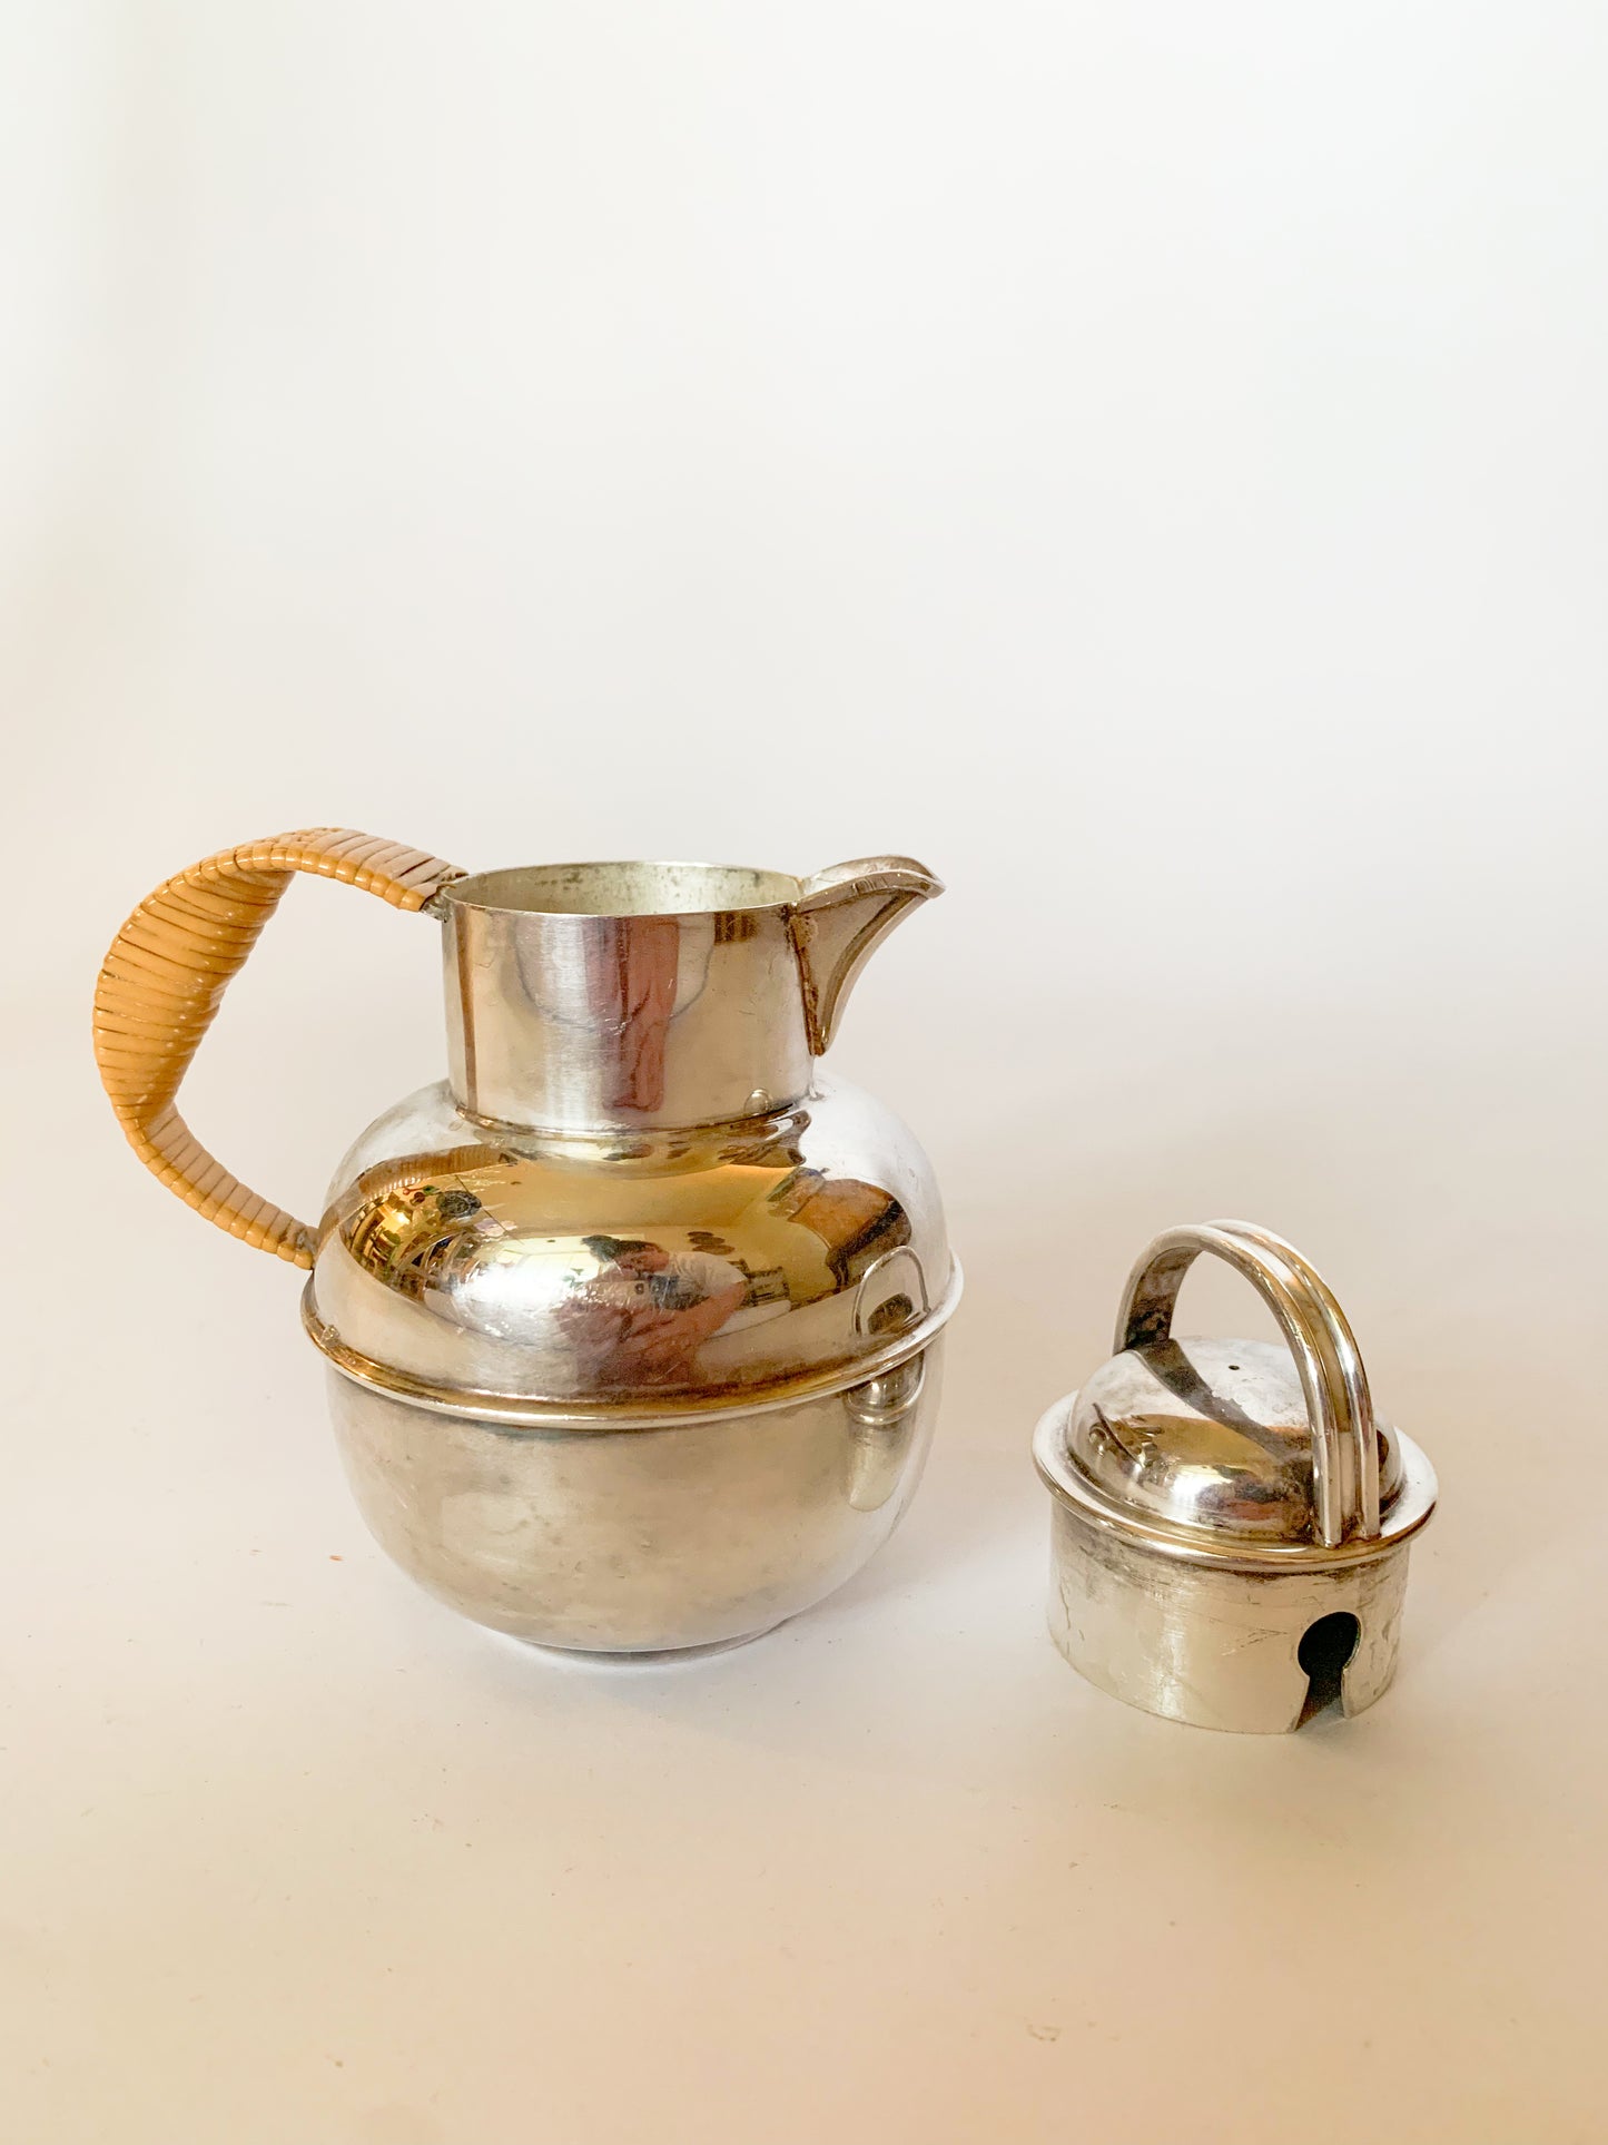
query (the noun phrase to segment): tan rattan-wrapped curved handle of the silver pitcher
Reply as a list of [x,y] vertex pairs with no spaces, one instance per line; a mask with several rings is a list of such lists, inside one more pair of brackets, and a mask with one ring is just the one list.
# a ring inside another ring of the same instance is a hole
[[111,942],[94,987],[94,1062],[146,1169],[229,1236],[311,1266],[315,1231],[232,1178],[174,1107],[229,978],[298,871],[397,909],[422,909],[463,877],[440,856],[339,826],[219,849],[146,894]]

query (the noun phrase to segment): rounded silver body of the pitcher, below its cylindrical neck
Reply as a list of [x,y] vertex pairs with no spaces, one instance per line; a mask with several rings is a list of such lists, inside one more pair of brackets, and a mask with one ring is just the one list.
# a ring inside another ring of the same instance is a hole
[[723,1645],[808,1609],[892,1532],[939,1407],[958,1281],[892,1113],[819,1081],[630,1145],[487,1141],[427,1088],[343,1165],[304,1293],[371,1532],[538,1645]]

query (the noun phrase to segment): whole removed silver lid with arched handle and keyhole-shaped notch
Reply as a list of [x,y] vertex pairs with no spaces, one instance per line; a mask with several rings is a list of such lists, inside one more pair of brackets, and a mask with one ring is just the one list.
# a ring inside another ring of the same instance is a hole
[[[1286,1347],[1173,1338],[1201,1253],[1261,1291]],[[1033,1459],[1055,1499],[1051,1632],[1102,1690],[1278,1733],[1389,1686],[1434,1474],[1374,1418],[1338,1302],[1271,1231],[1160,1236],[1128,1281],[1117,1353],[1044,1416]]]

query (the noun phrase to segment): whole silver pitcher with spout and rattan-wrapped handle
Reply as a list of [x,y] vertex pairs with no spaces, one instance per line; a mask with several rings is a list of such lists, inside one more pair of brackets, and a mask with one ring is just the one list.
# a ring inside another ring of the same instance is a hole
[[[298,871],[433,916],[446,955],[450,1077],[360,1135],[317,1225],[174,1107]],[[463,1615],[583,1652],[727,1645],[892,1532],[961,1278],[913,1135],[817,1060],[937,892],[903,856],[465,877],[317,828],[191,867],[118,933],[94,1042],[131,1145],[311,1268],[362,1514]]]

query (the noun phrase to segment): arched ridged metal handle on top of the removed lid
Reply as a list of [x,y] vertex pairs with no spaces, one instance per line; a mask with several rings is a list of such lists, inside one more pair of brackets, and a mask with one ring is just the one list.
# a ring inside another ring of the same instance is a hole
[[[1256,1289],[1295,1358],[1312,1422],[1312,1510],[1319,1540],[1379,1538],[1379,1439],[1368,1373],[1329,1285],[1293,1244],[1246,1221],[1166,1229],[1128,1276],[1117,1313],[1117,1351],[1166,1341],[1183,1276],[1203,1251]],[[1355,1465],[1344,1467],[1351,1439]],[[1351,1491],[1351,1495],[1346,1495]]]

